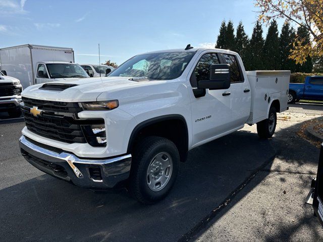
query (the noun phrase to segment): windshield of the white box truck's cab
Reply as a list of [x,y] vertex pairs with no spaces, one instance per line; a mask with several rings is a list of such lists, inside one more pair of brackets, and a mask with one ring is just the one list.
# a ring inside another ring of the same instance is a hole
[[89,77],[83,68],[77,64],[47,64],[47,70],[52,78]]

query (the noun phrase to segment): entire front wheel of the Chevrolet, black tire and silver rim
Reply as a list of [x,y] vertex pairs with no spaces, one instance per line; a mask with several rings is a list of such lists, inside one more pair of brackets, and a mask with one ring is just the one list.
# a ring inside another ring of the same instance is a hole
[[144,204],[165,198],[175,183],[179,161],[179,152],[172,141],[154,136],[144,138],[133,155],[131,194]]

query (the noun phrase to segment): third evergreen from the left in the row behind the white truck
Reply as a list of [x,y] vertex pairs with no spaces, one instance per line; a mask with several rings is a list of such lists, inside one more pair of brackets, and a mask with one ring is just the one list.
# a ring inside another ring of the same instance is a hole
[[242,61],[244,63],[244,67],[246,70],[250,68],[250,62],[247,58],[248,56],[248,48],[249,48],[249,39],[244,31],[244,27],[242,22],[239,22],[237,27],[236,37],[235,37],[235,51],[241,56]]

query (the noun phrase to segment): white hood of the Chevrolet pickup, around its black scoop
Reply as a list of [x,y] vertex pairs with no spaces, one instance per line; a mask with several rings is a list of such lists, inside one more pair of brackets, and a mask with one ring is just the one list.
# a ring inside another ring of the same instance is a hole
[[96,101],[97,97],[103,92],[108,97],[110,96],[109,94],[115,93],[116,91],[120,90],[123,90],[124,94],[131,95],[127,90],[139,86],[146,86],[152,85],[153,83],[163,82],[149,80],[131,81],[129,79],[130,77],[92,77],[60,80],[56,82],[50,82],[50,84],[76,84],[77,86],[67,88],[63,91],[52,91],[39,89],[43,84],[37,84],[26,88],[22,92],[22,96],[50,101],[86,102]]

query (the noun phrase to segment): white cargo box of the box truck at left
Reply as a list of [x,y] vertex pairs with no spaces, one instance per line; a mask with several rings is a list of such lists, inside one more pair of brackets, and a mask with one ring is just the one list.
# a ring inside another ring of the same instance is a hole
[[[74,63],[74,50],[33,44],[0,49],[1,71],[19,79],[23,88],[37,84],[39,63],[49,61]],[[46,81],[55,80],[49,77]]]

